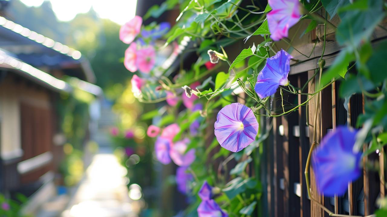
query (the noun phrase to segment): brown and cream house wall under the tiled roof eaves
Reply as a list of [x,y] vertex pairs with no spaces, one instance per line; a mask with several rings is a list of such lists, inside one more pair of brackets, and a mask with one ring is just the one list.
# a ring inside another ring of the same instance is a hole
[[37,181],[53,169],[52,92],[9,72],[0,83],[3,191]]

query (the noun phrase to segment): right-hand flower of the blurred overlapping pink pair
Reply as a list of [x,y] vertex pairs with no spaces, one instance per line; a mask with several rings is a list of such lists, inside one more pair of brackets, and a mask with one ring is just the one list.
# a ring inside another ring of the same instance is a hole
[[136,66],[142,73],[149,73],[156,61],[156,52],[152,46],[137,51]]

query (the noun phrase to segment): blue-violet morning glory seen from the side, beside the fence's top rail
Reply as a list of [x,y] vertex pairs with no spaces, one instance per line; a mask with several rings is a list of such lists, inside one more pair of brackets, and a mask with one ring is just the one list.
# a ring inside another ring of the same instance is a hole
[[276,93],[279,85],[289,85],[288,74],[291,58],[293,57],[290,54],[281,49],[275,56],[266,59],[266,65],[260,71],[254,88],[260,98]]

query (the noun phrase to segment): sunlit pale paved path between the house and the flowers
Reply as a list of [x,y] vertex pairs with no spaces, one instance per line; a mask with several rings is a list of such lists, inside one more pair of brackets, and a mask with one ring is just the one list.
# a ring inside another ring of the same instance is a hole
[[137,217],[126,173],[113,154],[96,154],[62,217]]

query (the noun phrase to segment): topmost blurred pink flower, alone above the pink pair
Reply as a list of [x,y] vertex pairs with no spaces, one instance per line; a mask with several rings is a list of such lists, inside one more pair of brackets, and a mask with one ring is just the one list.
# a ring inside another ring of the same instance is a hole
[[134,38],[140,33],[142,18],[135,16],[129,22],[123,24],[120,29],[120,40],[125,44],[130,44]]

